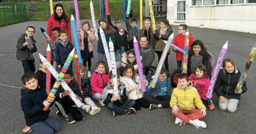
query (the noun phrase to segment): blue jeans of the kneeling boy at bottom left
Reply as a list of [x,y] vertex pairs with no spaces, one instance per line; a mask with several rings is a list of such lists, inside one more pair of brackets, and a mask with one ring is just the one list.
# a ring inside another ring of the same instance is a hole
[[30,126],[32,129],[31,134],[36,133],[53,133],[60,131],[60,122],[53,119],[52,117],[48,117],[44,122],[37,122]]

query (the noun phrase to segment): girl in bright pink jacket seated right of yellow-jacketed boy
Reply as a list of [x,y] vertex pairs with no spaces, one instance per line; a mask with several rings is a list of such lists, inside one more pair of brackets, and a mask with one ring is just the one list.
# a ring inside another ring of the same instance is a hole
[[214,105],[211,99],[207,99],[206,94],[210,85],[210,79],[206,73],[206,67],[202,64],[196,66],[194,73],[189,76],[189,81],[197,89],[199,96],[205,106],[208,106],[209,110],[214,109]]

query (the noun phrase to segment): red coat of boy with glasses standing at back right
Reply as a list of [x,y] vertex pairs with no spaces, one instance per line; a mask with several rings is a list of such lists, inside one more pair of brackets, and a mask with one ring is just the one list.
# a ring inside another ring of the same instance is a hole
[[[185,41],[185,34],[178,34],[174,37],[173,39],[173,44],[180,49],[184,50],[184,41]],[[188,50],[191,48],[191,44],[194,42],[194,37],[189,33],[189,45],[188,45]],[[173,49],[172,49],[173,50]],[[174,51],[174,50],[173,50]],[[176,60],[177,61],[183,61],[183,53],[179,51],[174,51],[176,52]]]

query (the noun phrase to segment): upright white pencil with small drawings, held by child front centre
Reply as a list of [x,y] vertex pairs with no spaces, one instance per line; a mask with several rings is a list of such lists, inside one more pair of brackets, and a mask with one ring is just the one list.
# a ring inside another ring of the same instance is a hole
[[113,84],[114,84],[114,95],[118,95],[118,86],[117,86],[117,72],[116,72],[116,58],[115,58],[115,49],[114,44],[109,37],[109,51],[110,51],[110,58],[111,58],[111,64],[109,68],[112,68],[112,76],[113,76]]

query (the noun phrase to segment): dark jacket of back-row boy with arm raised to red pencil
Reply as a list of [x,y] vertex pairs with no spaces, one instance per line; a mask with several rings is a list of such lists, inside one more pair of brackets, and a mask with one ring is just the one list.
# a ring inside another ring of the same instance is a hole
[[[115,33],[115,35],[116,35],[115,50],[120,49],[121,46],[124,46],[124,50],[127,51],[129,49],[128,39],[127,39],[128,32],[124,30],[124,34],[123,34],[123,36],[121,36],[119,34],[119,29],[112,24],[110,15],[107,15],[107,19],[108,19],[108,24],[113,26],[113,28],[116,30],[116,33]],[[124,43],[122,43],[121,38],[123,38]]]

